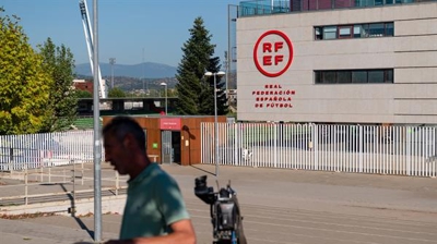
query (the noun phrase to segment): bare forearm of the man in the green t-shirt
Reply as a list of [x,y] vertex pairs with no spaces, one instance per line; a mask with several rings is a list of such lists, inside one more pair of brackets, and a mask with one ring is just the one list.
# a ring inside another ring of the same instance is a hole
[[110,240],[105,244],[196,244],[196,233],[191,220],[184,219],[170,224],[173,232],[168,235],[154,237],[135,237],[132,240]]

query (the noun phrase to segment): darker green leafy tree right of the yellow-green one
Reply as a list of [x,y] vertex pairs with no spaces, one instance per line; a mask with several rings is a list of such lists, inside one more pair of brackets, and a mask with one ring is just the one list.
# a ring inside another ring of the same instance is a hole
[[38,47],[51,80],[49,109],[52,113],[42,132],[64,131],[74,122],[78,111],[78,96],[73,88],[74,58],[69,48],[57,47],[50,38]]

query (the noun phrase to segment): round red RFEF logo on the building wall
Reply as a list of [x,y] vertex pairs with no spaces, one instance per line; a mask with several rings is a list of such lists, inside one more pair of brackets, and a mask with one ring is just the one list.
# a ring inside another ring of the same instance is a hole
[[292,64],[293,45],[280,30],[269,30],[258,38],[253,48],[253,61],[265,76],[282,75]]

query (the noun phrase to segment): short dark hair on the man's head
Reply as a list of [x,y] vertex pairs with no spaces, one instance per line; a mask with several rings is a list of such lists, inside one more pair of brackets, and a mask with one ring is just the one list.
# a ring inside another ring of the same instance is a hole
[[145,133],[140,124],[130,117],[116,117],[103,127],[103,136],[115,135],[122,141],[127,134],[132,134],[140,148],[145,150]]

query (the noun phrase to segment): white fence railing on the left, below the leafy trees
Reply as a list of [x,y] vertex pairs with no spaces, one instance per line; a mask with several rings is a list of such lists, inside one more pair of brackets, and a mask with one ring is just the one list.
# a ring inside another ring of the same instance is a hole
[[0,136],[0,171],[93,160],[93,131]]

